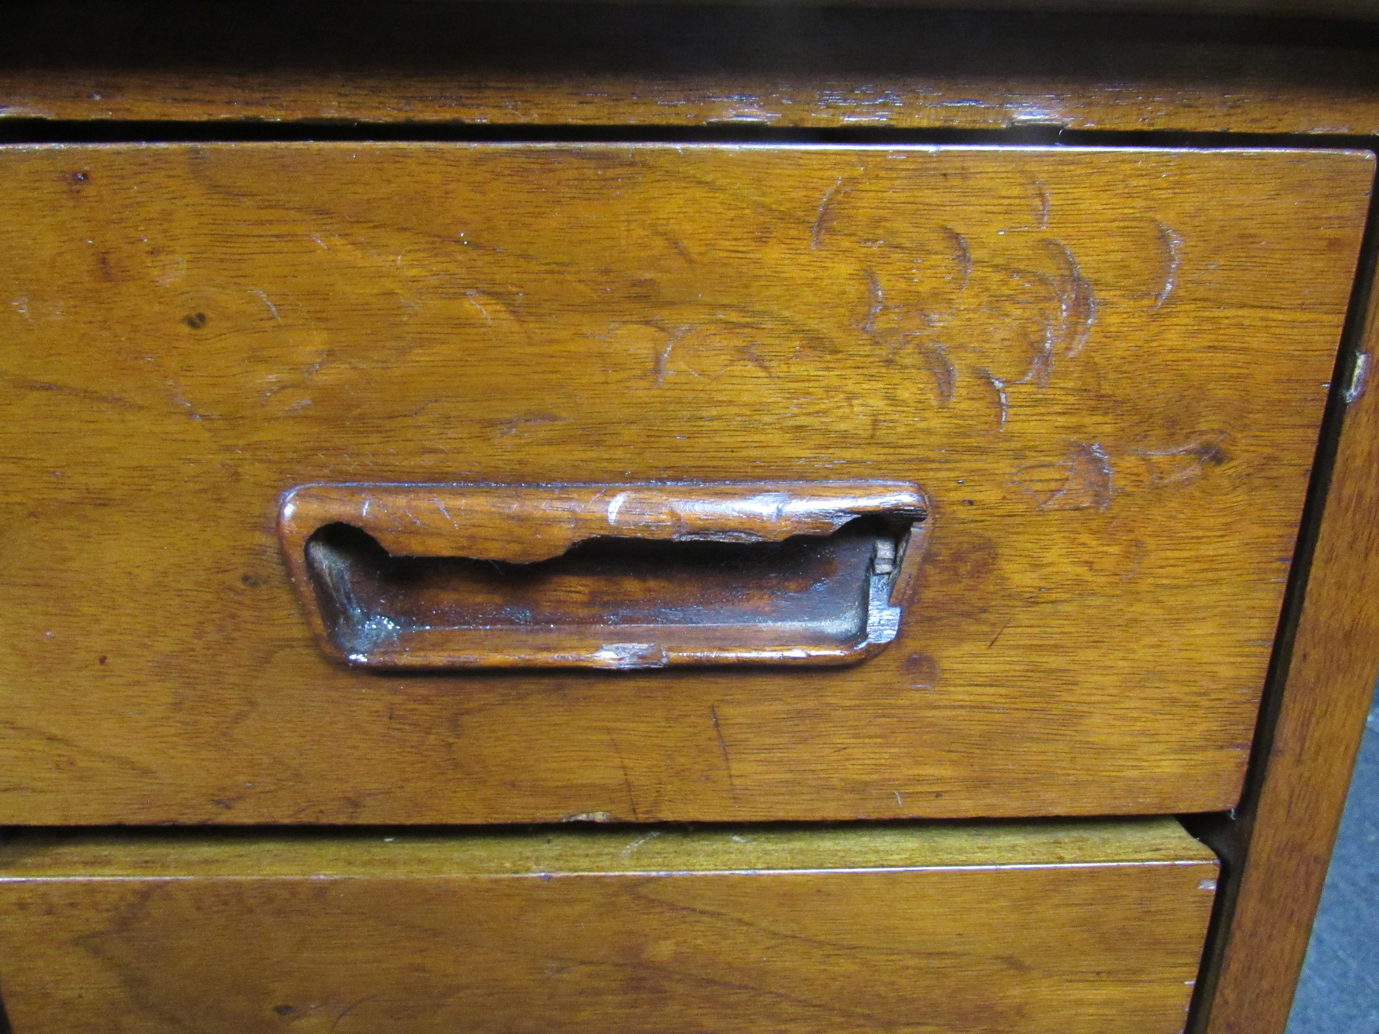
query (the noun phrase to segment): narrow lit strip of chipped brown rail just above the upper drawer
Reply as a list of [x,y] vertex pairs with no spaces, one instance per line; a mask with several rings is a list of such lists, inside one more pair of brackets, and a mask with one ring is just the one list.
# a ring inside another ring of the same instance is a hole
[[[1095,45],[1095,44],[1088,44]],[[1201,48],[1194,70],[1223,57]],[[1317,66],[1331,55],[1318,55]],[[1360,76],[1357,73],[1357,80]],[[301,123],[421,121],[434,125],[742,127],[781,130],[1019,130],[1178,132],[1379,132],[1379,87],[1356,81],[1343,92],[1306,84],[1280,87],[1263,76],[1201,83],[1065,77],[1011,81],[980,76],[843,76],[705,73],[641,76],[474,77],[341,74],[283,77],[81,69],[51,74],[0,70],[0,119],[44,120],[280,120]],[[108,131],[99,127],[98,131]],[[422,132],[426,128],[421,130]],[[137,130],[142,136],[148,130]],[[167,134],[177,135],[170,127]],[[41,139],[43,127],[25,135]],[[157,138],[163,134],[153,131]],[[214,136],[214,132],[211,134]]]

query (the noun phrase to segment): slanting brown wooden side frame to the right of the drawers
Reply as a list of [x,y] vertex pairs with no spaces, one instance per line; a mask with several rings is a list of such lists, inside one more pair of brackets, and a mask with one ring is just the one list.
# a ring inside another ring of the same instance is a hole
[[[1189,1030],[1282,1034],[1379,673],[1379,276],[1375,214],[1336,367],[1271,688],[1240,807],[1197,831],[1225,859]],[[1310,562],[1309,562],[1310,554]]]

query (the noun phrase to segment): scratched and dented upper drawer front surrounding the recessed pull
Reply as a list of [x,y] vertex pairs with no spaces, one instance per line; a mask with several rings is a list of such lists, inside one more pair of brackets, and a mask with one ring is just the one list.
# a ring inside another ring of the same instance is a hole
[[[1343,152],[6,150],[0,818],[1227,808],[1371,175]],[[320,655],[284,489],[572,474],[914,481],[916,605],[851,670]]]

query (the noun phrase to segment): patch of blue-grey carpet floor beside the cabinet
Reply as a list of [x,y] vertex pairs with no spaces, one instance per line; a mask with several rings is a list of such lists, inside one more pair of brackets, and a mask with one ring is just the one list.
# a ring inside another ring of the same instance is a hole
[[1369,711],[1288,1034],[1379,1034],[1379,702]]

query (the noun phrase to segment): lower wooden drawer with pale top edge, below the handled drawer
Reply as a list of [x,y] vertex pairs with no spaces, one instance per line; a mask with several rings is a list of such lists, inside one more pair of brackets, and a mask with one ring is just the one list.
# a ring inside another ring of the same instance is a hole
[[47,1031],[1176,1034],[1215,858],[1169,819],[25,833]]

